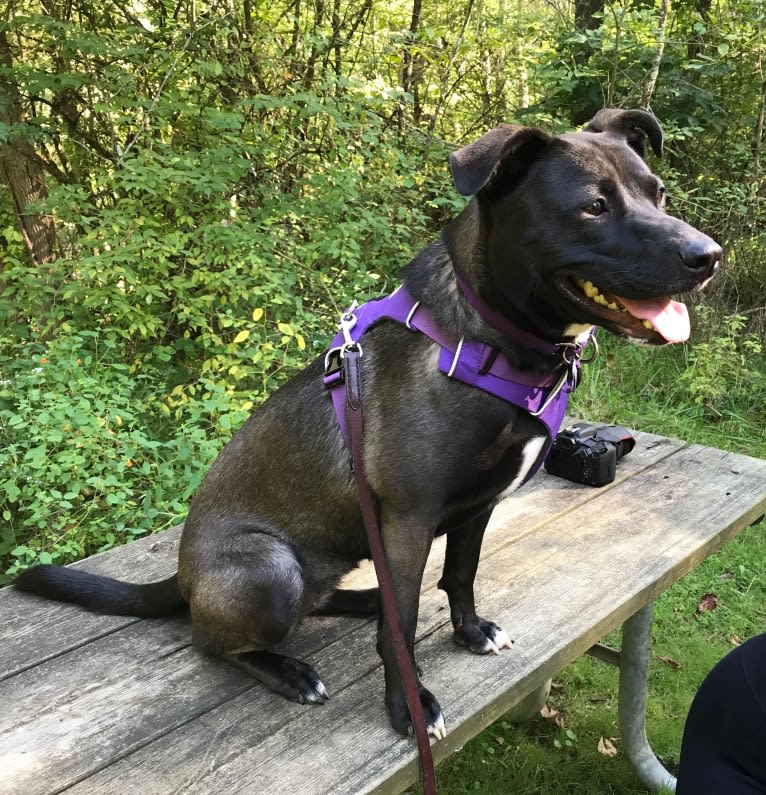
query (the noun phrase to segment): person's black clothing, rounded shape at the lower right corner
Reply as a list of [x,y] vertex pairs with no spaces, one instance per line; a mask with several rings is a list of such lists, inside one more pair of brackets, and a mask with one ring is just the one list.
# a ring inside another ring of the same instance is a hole
[[724,657],[697,691],[676,793],[766,794],[766,633]]

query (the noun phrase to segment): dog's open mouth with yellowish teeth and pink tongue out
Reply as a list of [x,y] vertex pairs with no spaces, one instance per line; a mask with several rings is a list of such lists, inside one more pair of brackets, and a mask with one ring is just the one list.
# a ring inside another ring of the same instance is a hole
[[598,325],[616,327],[626,336],[655,345],[689,339],[691,328],[686,306],[667,296],[623,298],[573,276],[559,281],[559,288],[573,303],[595,316]]

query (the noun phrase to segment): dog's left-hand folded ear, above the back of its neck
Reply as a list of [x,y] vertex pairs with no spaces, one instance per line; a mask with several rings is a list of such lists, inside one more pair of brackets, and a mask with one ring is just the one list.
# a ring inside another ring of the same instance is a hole
[[534,127],[501,124],[450,155],[455,187],[463,196],[497,194],[521,179],[552,140]]

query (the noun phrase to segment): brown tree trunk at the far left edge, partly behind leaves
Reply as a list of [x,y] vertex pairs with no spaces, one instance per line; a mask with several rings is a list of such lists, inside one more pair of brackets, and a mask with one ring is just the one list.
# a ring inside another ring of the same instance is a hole
[[[0,63],[13,66],[11,48],[0,29]],[[0,77],[0,122],[19,124],[24,113],[18,88]],[[32,145],[22,135],[0,144],[0,177],[8,186],[13,209],[19,221],[32,262],[40,265],[56,258],[58,241],[52,216],[30,211],[31,204],[48,196],[45,171]]]

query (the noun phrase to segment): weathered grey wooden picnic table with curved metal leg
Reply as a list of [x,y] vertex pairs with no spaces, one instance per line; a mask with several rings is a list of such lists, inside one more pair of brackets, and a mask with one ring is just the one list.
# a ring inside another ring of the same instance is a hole
[[[625,750],[648,785],[672,784],[643,729],[651,603],[766,511],[766,461],[637,439],[608,487],[541,472],[496,509],[477,597],[512,650],[477,657],[453,645],[435,545],[418,661],[449,731],[437,760],[627,622]],[[174,528],[77,565],[163,577],[178,537]],[[360,570],[355,584],[370,576]],[[288,703],[189,641],[184,617],[97,616],[0,591],[0,793],[396,792],[417,778],[414,744],[385,715],[374,622],[311,618],[291,640],[330,691],[321,707]]]

